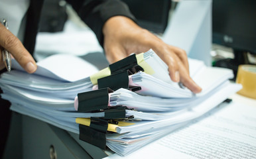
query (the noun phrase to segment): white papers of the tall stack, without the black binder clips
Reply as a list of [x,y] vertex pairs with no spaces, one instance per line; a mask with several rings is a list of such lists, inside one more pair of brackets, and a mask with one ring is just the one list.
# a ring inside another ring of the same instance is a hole
[[[125,121],[129,125],[117,125],[114,133],[106,135],[107,146],[123,156],[204,115],[241,89],[241,85],[229,83],[231,70],[209,68],[189,59],[190,75],[202,87],[201,93],[194,94],[170,80],[166,64],[153,50],[139,56],[143,58],[138,64],[147,68],[129,76],[129,85],[142,89],[109,93],[109,107],[134,109],[126,110],[126,117],[134,117]],[[92,91],[97,84],[92,75],[99,70],[86,61],[62,54],[38,62],[35,74],[27,74],[15,61],[13,68],[16,70],[0,78],[1,96],[11,101],[11,110],[75,133],[79,133],[76,118],[105,116],[104,112],[78,113],[74,107],[76,95]]]

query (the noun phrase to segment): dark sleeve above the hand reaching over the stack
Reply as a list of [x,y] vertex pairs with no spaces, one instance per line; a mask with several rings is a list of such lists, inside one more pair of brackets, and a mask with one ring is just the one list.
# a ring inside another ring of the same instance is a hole
[[119,0],[66,0],[79,17],[96,34],[99,44],[103,47],[102,28],[107,19],[122,15],[136,22],[135,17],[129,11],[129,7]]

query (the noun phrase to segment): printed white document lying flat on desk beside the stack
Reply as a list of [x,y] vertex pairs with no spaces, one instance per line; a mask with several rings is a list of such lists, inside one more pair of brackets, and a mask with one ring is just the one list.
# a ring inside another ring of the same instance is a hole
[[255,158],[255,112],[256,105],[223,103],[128,156],[107,158]]

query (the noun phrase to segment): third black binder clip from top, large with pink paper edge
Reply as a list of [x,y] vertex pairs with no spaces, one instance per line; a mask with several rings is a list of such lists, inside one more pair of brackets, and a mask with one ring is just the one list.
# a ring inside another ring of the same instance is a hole
[[95,91],[78,93],[78,112],[88,113],[107,109],[109,93],[112,92],[113,90],[106,87]]

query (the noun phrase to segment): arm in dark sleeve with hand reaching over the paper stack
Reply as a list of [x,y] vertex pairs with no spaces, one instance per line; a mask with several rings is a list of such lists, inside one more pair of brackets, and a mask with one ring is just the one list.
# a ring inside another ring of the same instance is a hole
[[202,89],[190,78],[186,52],[170,46],[148,30],[138,26],[125,3],[118,0],[67,0],[80,18],[96,33],[110,63],[131,53],[152,48],[168,65],[172,81],[180,81],[194,93]]

